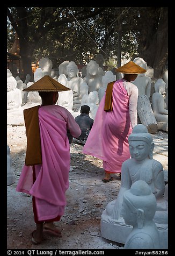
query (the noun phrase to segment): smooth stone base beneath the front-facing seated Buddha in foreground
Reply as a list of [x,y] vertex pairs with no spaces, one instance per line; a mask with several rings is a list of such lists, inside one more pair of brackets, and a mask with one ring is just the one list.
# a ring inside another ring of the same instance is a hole
[[[107,223],[105,221],[103,221],[103,217],[101,217],[101,236],[111,240],[111,241],[115,241],[117,243],[121,243],[121,244],[125,244],[125,241],[129,235],[129,233],[132,231],[132,226],[123,226],[119,223]],[[167,249],[168,248],[168,229],[167,229],[167,225],[162,226],[163,229],[165,230],[161,230],[160,226],[158,227],[158,231],[160,234],[160,244],[161,244],[161,248],[158,249]]]

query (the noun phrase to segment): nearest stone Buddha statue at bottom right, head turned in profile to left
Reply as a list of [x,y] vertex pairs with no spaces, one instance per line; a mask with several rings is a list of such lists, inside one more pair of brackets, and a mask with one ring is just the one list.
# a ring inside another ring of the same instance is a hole
[[159,232],[153,221],[156,197],[147,182],[138,180],[123,194],[122,216],[133,226],[124,249],[159,249]]

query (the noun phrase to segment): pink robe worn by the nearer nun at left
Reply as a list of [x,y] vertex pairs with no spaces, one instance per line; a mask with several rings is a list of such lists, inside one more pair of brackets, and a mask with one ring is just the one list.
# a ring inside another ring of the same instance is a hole
[[35,197],[38,221],[46,221],[64,214],[70,170],[67,129],[76,138],[81,130],[70,112],[58,105],[39,108],[39,126],[42,165],[35,165],[34,183],[32,166],[24,165],[16,190]]

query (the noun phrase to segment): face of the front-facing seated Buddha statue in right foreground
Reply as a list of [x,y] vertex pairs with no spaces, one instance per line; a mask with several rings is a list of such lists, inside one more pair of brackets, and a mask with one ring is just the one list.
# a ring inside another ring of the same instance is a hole
[[151,151],[150,146],[142,140],[130,140],[129,141],[129,152],[132,158],[137,161],[142,161],[149,156]]

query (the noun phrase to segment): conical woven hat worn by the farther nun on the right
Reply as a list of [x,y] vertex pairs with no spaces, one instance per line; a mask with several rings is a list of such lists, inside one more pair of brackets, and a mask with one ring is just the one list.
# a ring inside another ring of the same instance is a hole
[[147,70],[138,66],[135,62],[129,61],[125,65],[116,68],[116,72],[123,74],[142,74],[147,72]]

